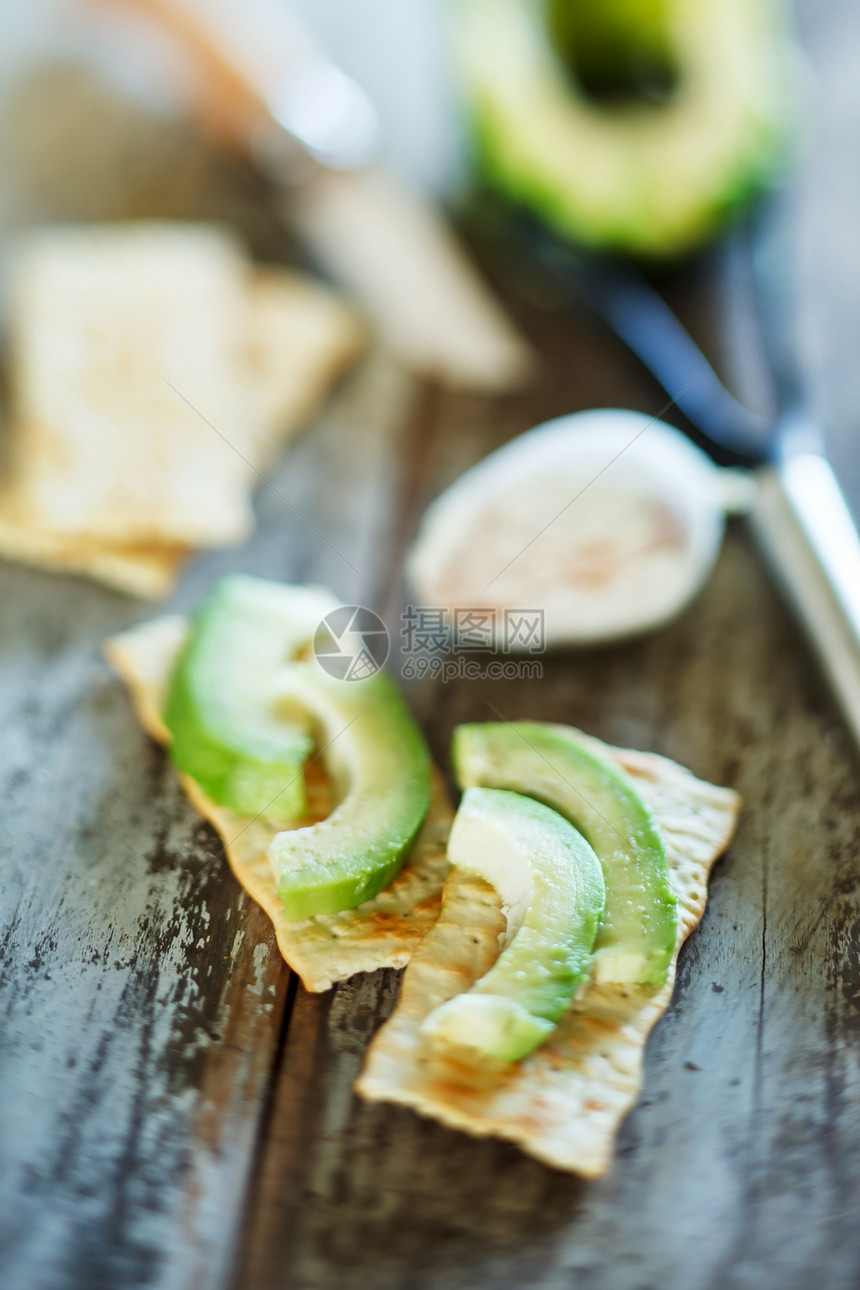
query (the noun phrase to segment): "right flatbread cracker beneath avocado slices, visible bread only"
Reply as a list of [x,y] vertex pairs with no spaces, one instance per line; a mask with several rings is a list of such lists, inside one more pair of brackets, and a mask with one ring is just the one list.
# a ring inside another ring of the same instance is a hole
[[505,1138],[585,1178],[610,1169],[619,1126],[640,1094],[649,1033],[672,998],[678,951],[701,918],[708,872],[740,809],[735,792],[703,783],[665,757],[602,747],[636,780],[667,842],[678,897],[669,982],[656,992],[591,986],[547,1044],[496,1071],[431,1053],[422,1020],[487,971],[505,930],[496,891],[454,868],[442,913],[409,965],[397,1007],[356,1082],[370,1102],[396,1102],[474,1136]]

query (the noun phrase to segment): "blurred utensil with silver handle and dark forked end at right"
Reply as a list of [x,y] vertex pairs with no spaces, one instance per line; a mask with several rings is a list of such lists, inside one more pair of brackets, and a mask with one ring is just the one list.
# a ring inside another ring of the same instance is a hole
[[714,459],[754,470],[753,531],[860,746],[860,535],[802,381],[789,217],[790,197],[783,195],[750,226],[754,304],[777,405],[772,417],[734,397],[633,266],[571,254],[534,228],[527,236],[554,279],[584,299],[656,377]]

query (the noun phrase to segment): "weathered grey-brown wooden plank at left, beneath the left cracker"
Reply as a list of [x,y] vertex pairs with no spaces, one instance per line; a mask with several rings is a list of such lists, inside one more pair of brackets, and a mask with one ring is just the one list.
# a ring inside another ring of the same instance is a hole
[[[241,557],[199,561],[177,606],[237,565],[373,597],[409,397],[371,361],[260,494]],[[147,609],[6,565],[0,579],[0,1280],[217,1286],[288,973],[98,657]]]

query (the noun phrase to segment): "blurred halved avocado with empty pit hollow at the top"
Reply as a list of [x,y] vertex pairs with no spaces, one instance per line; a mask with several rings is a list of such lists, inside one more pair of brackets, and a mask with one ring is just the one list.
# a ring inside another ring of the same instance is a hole
[[455,0],[482,174],[558,235],[683,254],[784,165],[783,0]]

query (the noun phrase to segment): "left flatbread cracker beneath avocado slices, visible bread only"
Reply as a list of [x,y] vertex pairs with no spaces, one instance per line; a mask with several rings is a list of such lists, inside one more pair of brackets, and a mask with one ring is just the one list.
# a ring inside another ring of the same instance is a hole
[[[115,636],[104,649],[132,694],[141,725],[161,744],[168,742],[161,719],[166,685],[187,631],[184,618],[165,617]],[[357,909],[300,922],[286,921],[277,895],[268,862],[273,826],[236,815],[210,801],[187,775],[181,779],[191,801],[224,841],[237,880],[272,920],[281,953],[306,989],[329,989],[356,973],[409,962],[438,916],[449,868],[445,846],[453,813],[441,777],[436,777],[429,814],[395,881]],[[311,813],[322,819],[331,808],[329,786],[317,771],[308,774],[307,787]]]

